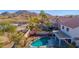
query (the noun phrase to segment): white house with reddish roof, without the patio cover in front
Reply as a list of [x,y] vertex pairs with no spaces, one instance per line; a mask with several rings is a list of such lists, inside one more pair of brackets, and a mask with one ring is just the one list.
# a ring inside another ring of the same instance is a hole
[[[71,18],[61,23],[61,31],[71,37],[71,41],[79,46],[79,18]],[[76,40],[77,38],[77,40]]]

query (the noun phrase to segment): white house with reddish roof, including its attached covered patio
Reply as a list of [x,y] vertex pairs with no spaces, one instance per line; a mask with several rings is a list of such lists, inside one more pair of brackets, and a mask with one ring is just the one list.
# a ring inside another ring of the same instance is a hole
[[60,30],[54,32],[54,39],[59,40],[59,46],[62,45],[62,41],[66,42],[68,45],[71,45],[72,42],[76,43],[76,46],[79,46],[79,17],[72,18],[61,18],[59,21]]

